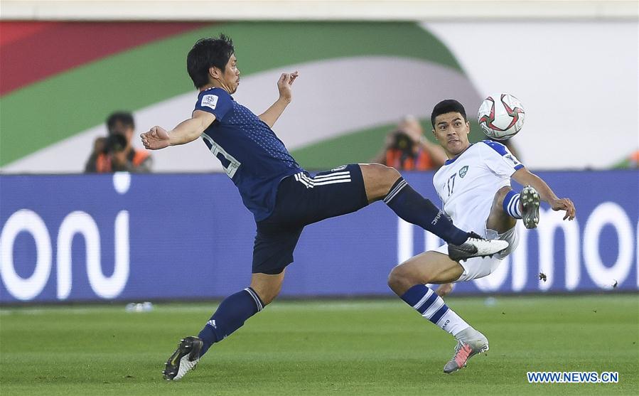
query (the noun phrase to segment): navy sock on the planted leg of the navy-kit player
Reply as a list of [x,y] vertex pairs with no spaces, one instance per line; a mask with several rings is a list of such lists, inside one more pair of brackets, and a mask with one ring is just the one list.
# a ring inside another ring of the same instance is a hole
[[200,356],[204,355],[214,343],[222,341],[233,331],[242,327],[247,319],[262,309],[264,309],[264,303],[250,287],[225,298],[198,334],[204,342]]

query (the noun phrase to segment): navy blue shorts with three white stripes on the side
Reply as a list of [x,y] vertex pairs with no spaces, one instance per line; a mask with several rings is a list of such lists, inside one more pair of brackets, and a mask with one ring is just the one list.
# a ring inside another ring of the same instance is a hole
[[253,245],[254,274],[279,274],[293,262],[293,251],[304,226],[353,213],[368,205],[358,164],[332,171],[296,173],[277,187],[273,213],[257,222]]

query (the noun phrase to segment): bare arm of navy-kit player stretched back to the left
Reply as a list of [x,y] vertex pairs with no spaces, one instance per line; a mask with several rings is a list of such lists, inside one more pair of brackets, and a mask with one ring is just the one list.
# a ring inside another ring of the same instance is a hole
[[159,150],[168,146],[185,144],[198,139],[202,132],[215,121],[215,115],[201,110],[195,110],[193,117],[184,120],[171,132],[162,127],[153,127],[149,132],[140,134],[145,149]]

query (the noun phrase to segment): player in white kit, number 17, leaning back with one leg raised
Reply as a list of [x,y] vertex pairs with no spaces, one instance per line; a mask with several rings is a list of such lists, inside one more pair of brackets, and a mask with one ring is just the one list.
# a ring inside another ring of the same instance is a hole
[[[539,221],[539,200],[553,210],[564,210],[564,220],[573,220],[575,208],[568,198],[557,198],[549,186],[530,173],[503,144],[480,141],[471,144],[471,126],[466,110],[456,100],[439,102],[431,114],[433,134],[449,160],[435,173],[433,183],[443,203],[443,213],[453,224],[480,237],[509,242],[508,249],[492,258],[474,257],[465,262],[450,259],[447,245],[408,259],[392,269],[388,285],[407,304],[453,335],[457,346],[444,366],[453,373],[466,366],[471,356],[488,350],[488,339],[461,319],[436,291],[426,284],[470,281],[491,274],[501,260],[517,247],[517,219],[526,228]],[[525,186],[521,193],[510,187],[510,179]],[[435,219],[434,221],[437,221]]]

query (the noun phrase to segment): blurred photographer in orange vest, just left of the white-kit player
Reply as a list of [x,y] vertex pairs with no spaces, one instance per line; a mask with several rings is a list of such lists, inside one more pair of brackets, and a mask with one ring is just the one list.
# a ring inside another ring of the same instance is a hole
[[437,169],[446,161],[439,144],[424,137],[419,119],[408,115],[386,137],[380,154],[372,162],[392,166],[400,171],[428,171]]

